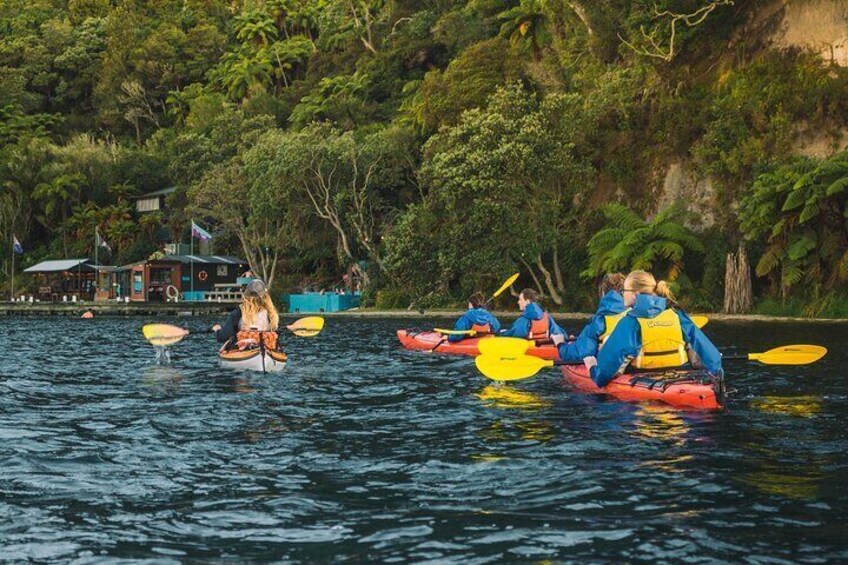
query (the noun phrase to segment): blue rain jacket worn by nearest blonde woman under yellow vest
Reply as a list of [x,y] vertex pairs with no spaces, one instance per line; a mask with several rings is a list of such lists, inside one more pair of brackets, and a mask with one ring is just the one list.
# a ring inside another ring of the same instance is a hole
[[[615,375],[624,371],[642,348],[642,328],[638,318],[655,318],[668,308],[668,301],[651,294],[636,297],[633,309],[622,318],[598,353],[598,365],[592,367],[592,380],[599,387],[606,386]],[[696,326],[686,312],[675,310],[683,330],[683,340],[688,346],[691,364],[703,367],[712,374],[724,374],[721,353]]]

